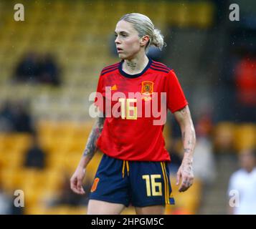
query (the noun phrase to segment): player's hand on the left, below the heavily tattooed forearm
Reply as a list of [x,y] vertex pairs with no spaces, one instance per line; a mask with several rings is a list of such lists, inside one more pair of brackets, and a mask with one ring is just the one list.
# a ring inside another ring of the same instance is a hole
[[85,168],[77,167],[74,174],[70,178],[70,188],[74,193],[83,195],[85,194],[85,190],[82,188],[82,180],[85,177]]

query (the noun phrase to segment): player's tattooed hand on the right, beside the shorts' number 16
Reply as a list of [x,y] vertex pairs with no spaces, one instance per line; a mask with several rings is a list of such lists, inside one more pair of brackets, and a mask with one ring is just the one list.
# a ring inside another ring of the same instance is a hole
[[192,167],[192,160],[184,158],[179,167],[176,177],[176,185],[179,185],[179,181],[182,179],[181,185],[179,186],[179,192],[185,192],[193,184],[194,174]]

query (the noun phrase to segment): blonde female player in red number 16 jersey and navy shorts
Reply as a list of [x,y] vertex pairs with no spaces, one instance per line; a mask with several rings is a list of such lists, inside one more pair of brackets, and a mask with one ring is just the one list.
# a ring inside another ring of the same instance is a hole
[[174,199],[163,123],[154,122],[159,118],[153,115],[156,107],[159,110],[159,103],[153,104],[160,101],[159,94],[166,94],[166,103],[161,100],[160,108],[170,109],[181,127],[184,158],[176,176],[176,185],[181,181],[180,192],[194,179],[194,125],[174,70],[146,56],[148,47],[162,49],[164,44],[151,19],[143,14],[125,14],[116,25],[115,36],[121,62],[105,67],[100,74],[97,92],[103,99],[96,98],[95,105],[104,116],[95,122],[70,186],[77,194],[85,193],[85,168],[100,149],[103,158],[90,191],[87,214],[120,214],[131,204],[137,214],[160,215]]

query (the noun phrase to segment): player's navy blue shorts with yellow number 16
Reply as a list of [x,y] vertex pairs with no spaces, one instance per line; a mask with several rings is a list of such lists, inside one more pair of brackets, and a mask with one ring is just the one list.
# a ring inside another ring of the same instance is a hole
[[168,166],[166,162],[125,161],[103,155],[90,199],[126,207],[174,204]]

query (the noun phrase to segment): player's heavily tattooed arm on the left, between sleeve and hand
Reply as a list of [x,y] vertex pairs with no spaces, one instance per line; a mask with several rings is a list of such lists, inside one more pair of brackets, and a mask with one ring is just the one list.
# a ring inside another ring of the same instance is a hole
[[83,152],[83,156],[93,157],[95,152],[98,150],[96,142],[100,137],[101,132],[103,131],[103,125],[105,122],[105,117],[99,117],[93,126],[93,130],[90,132],[90,135],[87,140],[87,144],[85,150]]

